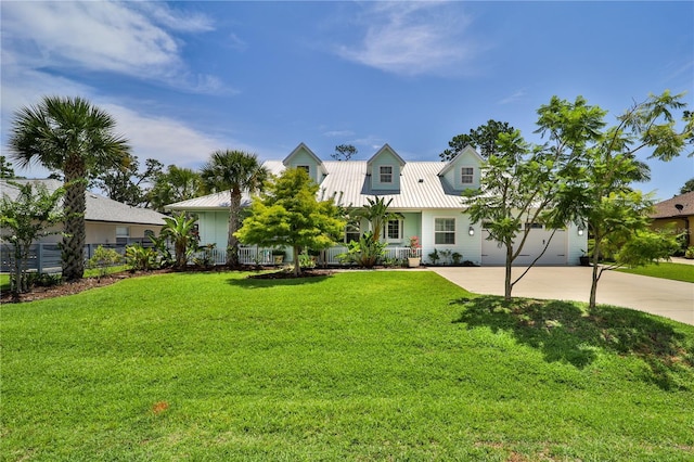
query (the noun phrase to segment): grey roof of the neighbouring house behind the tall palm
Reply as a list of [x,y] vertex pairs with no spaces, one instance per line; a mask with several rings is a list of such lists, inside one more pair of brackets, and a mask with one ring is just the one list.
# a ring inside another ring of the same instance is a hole
[[[18,184],[27,182],[44,184],[46,188],[53,192],[63,185],[60,180],[24,180],[24,179],[10,179],[0,180],[0,192],[2,195],[7,195],[14,201],[18,195],[18,189],[9,184],[8,181],[12,181]],[[87,191],[87,209],[85,211],[85,219],[88,221],[108,221],[118,223],[132,223],[132,224],[164,224],[164,217],[166,215],[158,211],[151,210],[149,208],[132,207],[121,202],[113,201],[103,195],[95,194]]]

